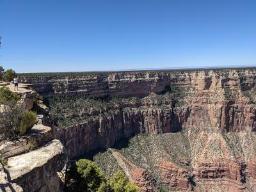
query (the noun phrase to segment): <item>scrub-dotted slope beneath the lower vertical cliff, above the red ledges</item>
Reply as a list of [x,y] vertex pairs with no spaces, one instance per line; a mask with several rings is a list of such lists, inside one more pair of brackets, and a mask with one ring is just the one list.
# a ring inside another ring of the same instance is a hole
[[[155,180],[154,188],[159,191],[180,190],[177,184],[170,184],[168,172],[172,172],[173,180],[187,180],[191,189],[204,189],[205,187],[194,178],[195,167],[200,169],[205,162],[209,166],[211,164],[215,166],[216,161],[220,161],[221,166],[225,166],[224,169],[227,169],[228,163],[235,161],[243,166],[244,162],[248,163],[255,157],[253,150],[256,147],[255,136],[255,132],[250,131],[237,134],[199,128],[182,129],[179,132],[165,134],[138,134],[131,138],[127,145],[122,143],[120,146],[116,145],[99,152],[93,157],[93,161],[106,175],[113,175],[118,170],[133,175],[136,174],[134,173],[136,169],[145,170],[147,179]],[[229,159],[225,159],[227,156]],[[214,172],[218,172],[218,166]],[[225,170],[225,174],[228,172],[229,170]],[[241,170],[241,179],[243,174],[244,170]],[[142,176],[140,177],[143,179]],[[167,177],[169,179],[166,180]],[[217,183],[220,182],[218,178],[222,176],[216,173],[214,177]],[[150,185],[152,186],[152,183]],[[250,182],[247,185],[251,188]]]

